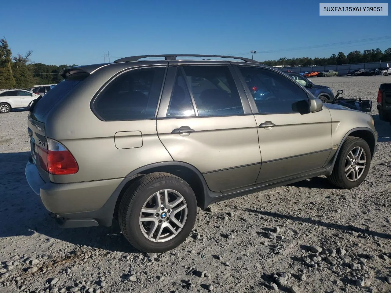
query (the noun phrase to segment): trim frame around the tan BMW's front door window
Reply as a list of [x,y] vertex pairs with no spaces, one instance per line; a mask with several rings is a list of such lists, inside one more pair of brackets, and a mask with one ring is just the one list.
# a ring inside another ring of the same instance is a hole
[[[237,75],[238,75],[238,77],[239,77],[239,79],[240,79],[240,81],[242,83],[244,91],[246,92],[246,95],[247,95],[247,98],[248,98],[251,110],[253,111],[254,115],[300,114],[300,112],[259,113],[258,107],[256,106],[256,103],[255,103],[255,100],[254,100],[254,97],[253,97],[253,95],[251,95],[251,92],[250,92],[250,90],[249,90],[249,88],[247,86],[246,80],[244,79],[244,76],[242,75],[242,72],[240,71],[240,67],[243,67],[243,68],[253,68],[253,69],[258,69],[258,70],[265,70],[265,71],[270,71],[270,72],[274,72],[274,73],[282,75],[283,78],[286,78],[287,80],[289,80],[289,82],[294,84],[294,86],[296,86],[300,90],[304,91],[304,93],[307,96],[307,101],[308,101],[308,113],[310,113],[310,98],[312,98],[312,94],[307,89],[303,89],[300,86],[300,84],[298,84],[298,82],[296,82],[294,79],[291,78],[291,76],[286,76],[283,72],[280,72],[278,70],[273,70],[271,68],[267,68],[267,67],[264,67],[264,66],[235,65],[233,67],[235,68],[235,71],[236,71],[236,73],[237,73]],[[306,113],[306,114],[308,114],[308,113]]]

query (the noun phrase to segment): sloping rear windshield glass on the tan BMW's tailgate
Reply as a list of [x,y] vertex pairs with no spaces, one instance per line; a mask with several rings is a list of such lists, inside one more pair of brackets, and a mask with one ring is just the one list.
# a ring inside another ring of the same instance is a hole
[[81,83],[88,74],[76,73],[73,76],[70,75],[67,79],[59,82],[48,93],[41,97],[34,108],[32,109],[31,116],[35,120],[43,121],[49,110],[52,109],[59,101],[63,100],[72,89]]

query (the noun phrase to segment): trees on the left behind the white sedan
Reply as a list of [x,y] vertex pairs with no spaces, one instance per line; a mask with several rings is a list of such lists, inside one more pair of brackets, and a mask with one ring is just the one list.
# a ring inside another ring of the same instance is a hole
[[63,80],[59,73],[70,65],[31,63],[31,55],[32,51],[28,51],[12,57],[7,40],[0,39],[0,89],[29,89],[35,84],[57,84]]

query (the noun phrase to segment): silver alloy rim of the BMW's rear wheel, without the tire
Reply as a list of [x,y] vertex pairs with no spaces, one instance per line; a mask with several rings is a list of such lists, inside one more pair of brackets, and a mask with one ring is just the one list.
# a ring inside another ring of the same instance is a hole
[[140,216],[140,229],[143,235],[154,242],[164,242],[174,238],[182,230],[187,220],[185,198],[172,189],[160,190],[144,203]]

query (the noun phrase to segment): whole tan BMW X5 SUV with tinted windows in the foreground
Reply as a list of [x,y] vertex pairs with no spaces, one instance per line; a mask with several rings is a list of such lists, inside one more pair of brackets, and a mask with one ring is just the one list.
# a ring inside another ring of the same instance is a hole
[[365,180],[370,115],[252,59],[178,56],[66,68],[29,105],[26,178],[63,227],[115,218],[134,247],[163,252],[187,238],[197,206],[318,175]]

